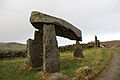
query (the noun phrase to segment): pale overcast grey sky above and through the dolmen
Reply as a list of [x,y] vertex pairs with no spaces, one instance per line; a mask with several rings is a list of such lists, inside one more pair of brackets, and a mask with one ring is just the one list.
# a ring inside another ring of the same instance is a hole
[[[34,38],[32,11],[62,18],[82,31],[82,43],[120,40],[120,0],[0,0],[0,42]],[[75,43],[57,37],[58,45]]]

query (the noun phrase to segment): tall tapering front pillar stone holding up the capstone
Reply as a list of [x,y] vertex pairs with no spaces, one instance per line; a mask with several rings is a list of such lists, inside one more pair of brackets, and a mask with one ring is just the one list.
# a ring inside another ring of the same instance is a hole
[[43,69],[44,72],[60,71],[60,54],[54,25],[43,26]]

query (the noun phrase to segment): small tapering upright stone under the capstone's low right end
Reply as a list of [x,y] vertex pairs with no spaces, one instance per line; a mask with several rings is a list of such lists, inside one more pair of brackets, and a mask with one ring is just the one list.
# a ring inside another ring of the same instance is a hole
[[77,57],[77,58],[83,57],[82,47],[79,41],[76,41],[76,44],[75,44],[74,57]]

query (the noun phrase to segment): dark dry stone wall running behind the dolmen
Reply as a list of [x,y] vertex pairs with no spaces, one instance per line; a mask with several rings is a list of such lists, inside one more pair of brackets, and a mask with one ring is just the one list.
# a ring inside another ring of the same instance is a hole
[[[93,48],[95,45],[94,42],[89,42],[87,44],[81,44],[82,48]],[[65,52],[65,51],[73,51],[74,50],[73,45],[66,45],[66,46],[60,46],[59,51],[60,52]],[[12,57],[26,57],[27,51],[26,50],[0,50],[0,58],[12,58]]]

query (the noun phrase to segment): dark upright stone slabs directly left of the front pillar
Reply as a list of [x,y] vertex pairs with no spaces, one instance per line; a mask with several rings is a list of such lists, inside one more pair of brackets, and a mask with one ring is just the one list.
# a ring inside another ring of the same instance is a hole
[[28,61],[32,67],[41,67],[43,65],[43,29],[35,31],[35,40],[28,41]]

